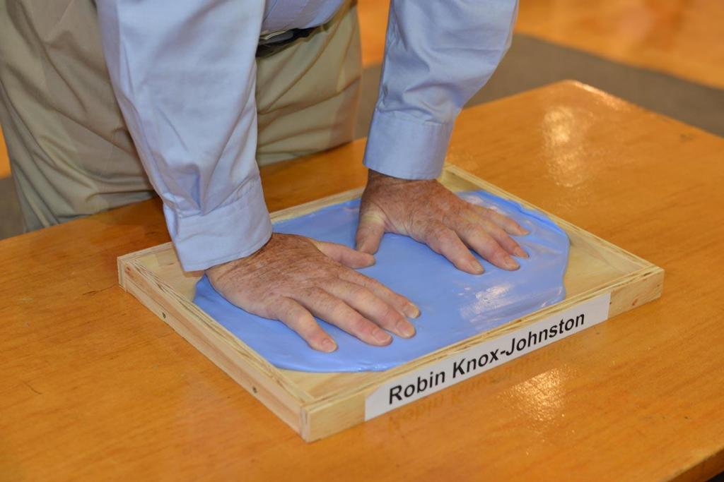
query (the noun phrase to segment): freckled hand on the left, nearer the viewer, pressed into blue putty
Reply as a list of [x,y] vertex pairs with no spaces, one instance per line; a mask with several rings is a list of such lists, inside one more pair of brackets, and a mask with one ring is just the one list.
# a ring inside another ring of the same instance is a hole
[[420,311],[404,296],[353,268],[374,264],[371,254],[341,244],[274,233],[249,257],[206,270],[214,289],[228,301],[260,317],[277,319],[315,350],[337,349],[314,316],[370,345],[389,345],[384,330],[411,337],[405,317]]

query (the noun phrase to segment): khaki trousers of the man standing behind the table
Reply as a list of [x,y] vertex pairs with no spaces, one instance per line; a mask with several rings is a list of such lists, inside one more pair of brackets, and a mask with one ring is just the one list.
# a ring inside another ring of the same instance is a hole
[[[355,1],[257,59],[257,162],[353,139]],[[117,106],[93,0],[0,0],[0,123],[26,231],[153,195]]]

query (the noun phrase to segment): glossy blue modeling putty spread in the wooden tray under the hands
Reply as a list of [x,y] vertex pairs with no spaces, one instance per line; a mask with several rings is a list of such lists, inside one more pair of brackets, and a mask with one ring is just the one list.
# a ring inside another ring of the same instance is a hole
[[[257,317],[230,304],[206,276],[196,285],[195,304],[269,362],[300,371],[382,371],[406,363],[498,327],[532,311],[563,300],[563,274],[568,262],[568,236],[540,212],[485,191],[458,194],[515,219],[530,233],[515,239],[530,255],[518,259],[521,268],[505,271],[482,262],[482,275],[457,270],[444,257],[407,236],[387,233],[375,255],[376,264],[360,270],[419,306],[411,320],[417,334],[410,339],[392,335],[385,347],[366,345],[332,324],[319,320],[338,348],[321,353],[281,322]],[[295,233],[321,241],[354,246],[359,199],[325,207],[274,225],[279,233]]]

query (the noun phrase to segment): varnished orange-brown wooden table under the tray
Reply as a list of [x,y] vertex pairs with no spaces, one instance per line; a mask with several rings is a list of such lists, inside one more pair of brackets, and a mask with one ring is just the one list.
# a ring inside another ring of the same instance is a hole
[[[363,142],[265,168],[271,210]],[[304,443],[117,286],[142,202],[0,242],[0,479],[696,480],[724,470],[724,139],[563,82],[465,111],[448,160],[666,270],[659,301]]]

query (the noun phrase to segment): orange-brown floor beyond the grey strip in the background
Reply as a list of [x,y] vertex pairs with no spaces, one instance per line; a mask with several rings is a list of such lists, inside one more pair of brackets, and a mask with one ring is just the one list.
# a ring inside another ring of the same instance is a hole
[[[360,0],[365,65],[382,61],[389,0]],[[525,0],[515,33],[724,88],[724,1]]]

